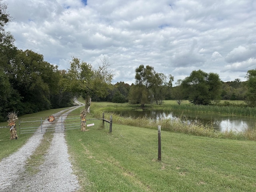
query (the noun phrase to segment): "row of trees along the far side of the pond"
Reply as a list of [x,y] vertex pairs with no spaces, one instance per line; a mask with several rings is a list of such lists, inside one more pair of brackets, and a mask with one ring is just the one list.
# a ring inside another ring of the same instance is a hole
[[[244,100],[247,106],[256,106],[256,69],[248,70],[245,82],[239,78],[223,82],[216,73],[194,70],[190,76],[177,80],[174,86],[172,75],[157,73],[152,66],[140,65],[135,72],[135,84],[129,86],[118,82],[113,85],[114,94],[120,100],[110,94],[107,101],[129,101],[130,104],[140,104],[142,108],[148,103],[162,104],[163,100],[176,100],[178,104],[188,100],[196,105],[218,104],[220,100]],[[126,94],[118,91],[122,89],[120,87],[127,90]]]

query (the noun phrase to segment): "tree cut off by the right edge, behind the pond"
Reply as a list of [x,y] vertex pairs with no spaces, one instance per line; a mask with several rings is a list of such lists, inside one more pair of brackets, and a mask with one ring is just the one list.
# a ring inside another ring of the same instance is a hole
[[246,74],[248,88],[246,92],[246,102],[248,106],[256,106],[256,69],[248,70]]

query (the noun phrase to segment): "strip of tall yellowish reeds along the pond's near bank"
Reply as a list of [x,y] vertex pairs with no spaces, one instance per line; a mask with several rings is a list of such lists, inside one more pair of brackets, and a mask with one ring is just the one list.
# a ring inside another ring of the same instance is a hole
[[[102,117],[102,110],[93,110],[92,114],[95,118]],[[190,124],[184,122],[180,119],[172,120],[170,118],[161,120],[150,120],[148,118],[131,118],[122,117],[114,113],[105,113],[105,117],[112,115],[112,120],[114,124],[123,124],[136,127],[144,127],[150,129],[157,129],[158,125],[161,126],[162,130],[179,132],[184,134],[191,134],[196,136],[208,136],[212,138],[229,138],[236,140],[253,140],[256,141],[256,130],[246,130],[244,132],[236,132],[232,130],[226,130],[225,132],[220,132],[214,130],[212,125],[202,125]]]

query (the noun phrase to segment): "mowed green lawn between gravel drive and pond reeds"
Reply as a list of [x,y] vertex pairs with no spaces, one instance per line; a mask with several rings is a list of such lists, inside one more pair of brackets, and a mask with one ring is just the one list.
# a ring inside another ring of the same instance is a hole
[[91,123],[88,132],[66,131],[81,192],[255,191],[253,141],[162,131],[158,161],[157,130],[114,123],[109,133],[106,122]]

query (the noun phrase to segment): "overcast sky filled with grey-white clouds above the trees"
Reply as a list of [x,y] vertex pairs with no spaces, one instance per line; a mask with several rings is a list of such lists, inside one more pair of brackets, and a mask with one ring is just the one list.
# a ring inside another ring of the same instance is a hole
[[131,84],[140,64],[174,82],[199,69],[244,81],[256,68],[255,0],[3,1],[18,49],[58,69],[68,69],[72,56],[97,68],[105,56],[113,83]]

